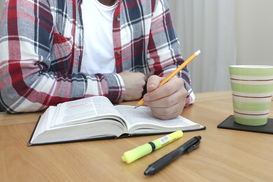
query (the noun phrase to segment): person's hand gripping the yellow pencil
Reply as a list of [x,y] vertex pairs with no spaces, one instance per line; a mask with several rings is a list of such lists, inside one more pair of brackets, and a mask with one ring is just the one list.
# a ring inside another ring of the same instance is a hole
[[151,110],[152,115],[158,119],[173,119],[180,115],[185,106],[188,91],[181,78],[173,77],[159,87],[165,78],[153,75],[147,81],[147,91],[144,100]]

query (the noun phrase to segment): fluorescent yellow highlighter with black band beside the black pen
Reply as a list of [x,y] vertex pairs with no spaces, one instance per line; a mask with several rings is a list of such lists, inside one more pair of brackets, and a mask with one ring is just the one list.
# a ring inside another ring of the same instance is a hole
[[124,152],[121,158],[123,162],[127,162],[127,164],[129,164],[182,136],[183,132],[181,130],[175,131],[169,135],[158,138],[152,142],[146,143],[144,145],[138,146],[137,148]]

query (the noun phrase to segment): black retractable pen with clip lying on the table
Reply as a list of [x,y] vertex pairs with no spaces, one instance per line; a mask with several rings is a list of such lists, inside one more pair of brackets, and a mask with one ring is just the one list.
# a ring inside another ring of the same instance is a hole
[[173,150],[169,154],[166,154],[162,158],[158,159],[153,164],[149,165],[146,171],[144,172],[144,175],[153,175],[159,170],[163,169],[165,166],[173,162],[175,159],[177,159],[179,156],[181,156],[184,153],[189,153],[191,150],[197,148],[200,144],[201,137],[193,137],[189,141],[185,142],[183,145],[178,147],[177,149]]

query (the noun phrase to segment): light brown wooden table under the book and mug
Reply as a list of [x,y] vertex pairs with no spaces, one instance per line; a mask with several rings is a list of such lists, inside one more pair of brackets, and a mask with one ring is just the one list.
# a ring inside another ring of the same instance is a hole
[[[135,106],[136,102],[125,102]],[[0,181],[272,181],[272,135],[218,129],[233,114],[231,91],[196,94],[183,117],[206,126],[131,164],[121,156],[164,135],[27,146],[41,113],[0,113]],[[269,117],[273,117],[273,104]],[[147,166],[200,135],[200,147],[153,176]]]

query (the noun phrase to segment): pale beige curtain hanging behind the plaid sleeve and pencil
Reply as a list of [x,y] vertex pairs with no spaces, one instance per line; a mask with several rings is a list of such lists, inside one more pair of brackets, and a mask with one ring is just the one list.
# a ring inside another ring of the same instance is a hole
[[195,93],[230,90],[229,65],[236,64],[234,0],[167,0],[189,63]]

